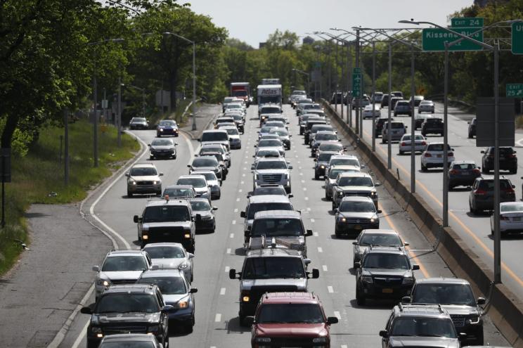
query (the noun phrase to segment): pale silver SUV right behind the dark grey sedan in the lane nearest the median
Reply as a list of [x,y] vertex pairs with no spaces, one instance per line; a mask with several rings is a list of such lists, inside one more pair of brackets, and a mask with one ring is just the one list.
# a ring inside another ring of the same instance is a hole
[[332,184],[332,211],[340,206],[340,202],[346,195],[358,195],[370,197],[377,209],[376,186],[381,183],[374,183],[373,178],[367,173],[352,172],[340,173],[336,182]]

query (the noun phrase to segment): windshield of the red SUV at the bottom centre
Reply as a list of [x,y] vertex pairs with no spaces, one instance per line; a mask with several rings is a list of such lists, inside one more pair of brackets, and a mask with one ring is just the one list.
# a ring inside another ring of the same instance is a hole
[[325,322],[325,318],[318,304],[278,303],[261,306],[256,322],[319,324]]

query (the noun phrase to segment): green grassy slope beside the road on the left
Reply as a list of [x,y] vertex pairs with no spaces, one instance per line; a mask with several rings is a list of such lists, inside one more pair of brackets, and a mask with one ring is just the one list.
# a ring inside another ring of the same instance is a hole
[[65,186],[60,135],[63,127],[49,125],[41,129],[39,140],[25,157],[13,155],[11,159],[12,182],[6,183],[6,226],[0,230],[0,274],[8,271],[18,258],[22,248],[17,240],[29,244],[24,215],[30,204],[83,200],[90,188],[110,176],[140,148],[127,134],[122,134],[122,147],[118,148],[116,129],[101,126],[99,165],[94,168],[92,124],[86,120],[70,124],[70,179]]

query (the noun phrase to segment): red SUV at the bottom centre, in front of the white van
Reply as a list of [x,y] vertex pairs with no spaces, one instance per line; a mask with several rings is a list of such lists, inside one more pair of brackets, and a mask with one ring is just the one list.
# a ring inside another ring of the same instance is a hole
[[251,347],[330,347],[330,325],[318,295],[310,292],[270,292],[260,299],[252,324]]

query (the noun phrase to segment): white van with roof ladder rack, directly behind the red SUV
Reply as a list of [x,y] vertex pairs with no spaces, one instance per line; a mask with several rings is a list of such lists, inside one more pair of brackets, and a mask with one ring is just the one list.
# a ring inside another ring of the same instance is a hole
[[240,325],[252,316],[259,299],[266,292],[306,292],[309,278],[319,278],[318,269],[306,271],[309,259],[302,252],[276,247],[250,250],[245,255],[241,272],[229,270],[229,278],[240,280]]

